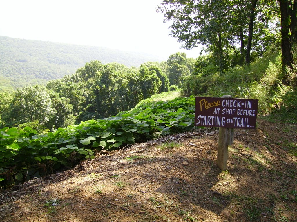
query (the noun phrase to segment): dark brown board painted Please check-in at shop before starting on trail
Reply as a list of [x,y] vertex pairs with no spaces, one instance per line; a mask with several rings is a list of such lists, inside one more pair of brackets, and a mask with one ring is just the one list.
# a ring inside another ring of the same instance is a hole
[[256,128],[258,99],[196,97],[195,126]]

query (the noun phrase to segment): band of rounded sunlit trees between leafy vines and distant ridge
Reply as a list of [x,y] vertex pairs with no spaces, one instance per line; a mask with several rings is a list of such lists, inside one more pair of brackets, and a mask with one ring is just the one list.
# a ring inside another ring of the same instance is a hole
[[48,81],[46,86],[26,86],[12,94],[0,92],[0,126],[26,125],[43,132],[107,118],[154,94],[177,90],[194,65],[195,59],[184,53],[170,55],[167,62],[146,62],[139,68],[94,60],[72,75]]

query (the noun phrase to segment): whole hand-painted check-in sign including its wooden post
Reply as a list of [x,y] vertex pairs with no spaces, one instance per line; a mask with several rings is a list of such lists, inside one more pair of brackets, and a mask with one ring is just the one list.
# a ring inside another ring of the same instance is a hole
[[195,126],[219,127],[217,167],[227,169],[228,146],[234,140],[234,128],[256,128],[257,99],[231,96],[196,97]]

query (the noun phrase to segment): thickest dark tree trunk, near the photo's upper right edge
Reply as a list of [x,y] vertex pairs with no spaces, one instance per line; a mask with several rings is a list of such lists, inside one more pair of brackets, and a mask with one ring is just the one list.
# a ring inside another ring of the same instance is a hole
[[[281,16],[281,47],[282,47],[282,68],[286,71],[286,67],[292,68],[293,54],[292,54],[292,41],[290,35],[292,8],[290,7],[291,1],[279,0],[280,16]],[[286,82],[287,75],[284,81]]]

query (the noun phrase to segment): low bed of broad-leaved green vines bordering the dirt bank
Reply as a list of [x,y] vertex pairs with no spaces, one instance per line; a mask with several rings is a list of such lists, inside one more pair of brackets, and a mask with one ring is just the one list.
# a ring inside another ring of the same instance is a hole
[[97,152],[189,130],[195,97],[140,104],[110,118],[89,120],[38,135],[30,127],[0,129],[0,185],[16,184],[72,167]]

